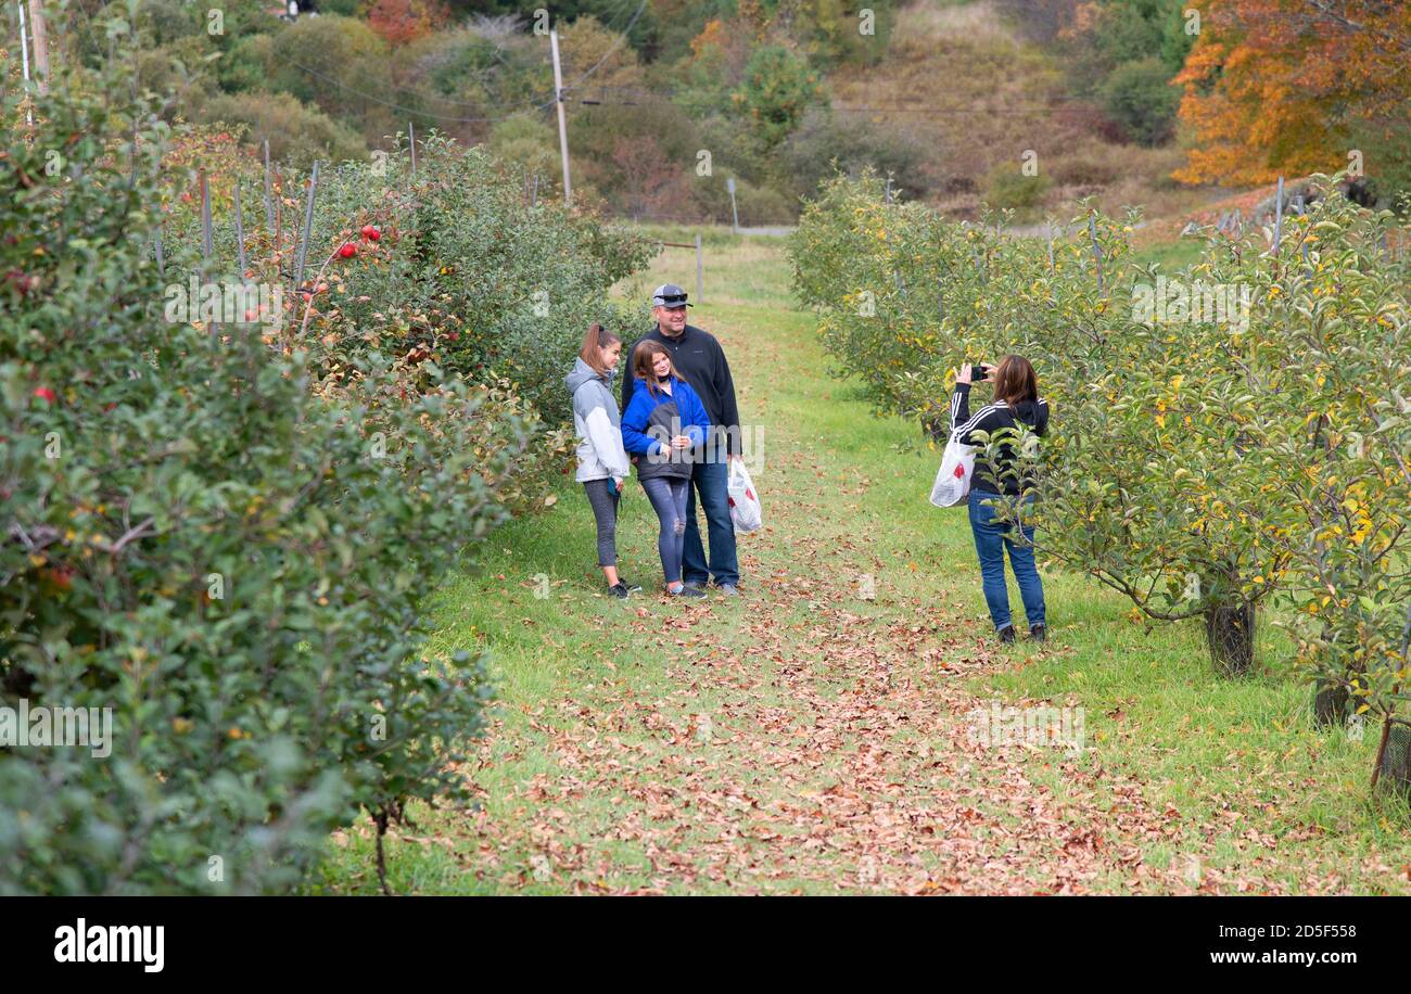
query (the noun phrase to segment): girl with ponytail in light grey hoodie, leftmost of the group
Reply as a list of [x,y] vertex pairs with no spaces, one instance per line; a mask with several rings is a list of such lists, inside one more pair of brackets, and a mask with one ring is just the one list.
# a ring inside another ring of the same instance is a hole
[[598,565],[608,594],[626,598],[641,587],[622,581],[617,571],[617,513],[622,479],[632,465],[622,448],[621,416],[612,375],[622,357],[622,340],[597,321],[583,336],[583,348],[564,385],[573,396],[573,429],[579,434],[579,472],[598,526]]

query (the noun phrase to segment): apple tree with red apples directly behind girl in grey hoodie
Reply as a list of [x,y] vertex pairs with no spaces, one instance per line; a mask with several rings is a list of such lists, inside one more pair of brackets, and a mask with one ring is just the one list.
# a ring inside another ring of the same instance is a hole
[[[257,185],[244,192],[251,268],[286,286],[295,341],[319,369],[377,352],[425,351],[439,367],[477,382],[509,382],[550,424],[569,416],[563,375],[573,365],[583,329],[593,320],[618,326],[608,289],[641,268],[648,243],[605,227],[594,214],[567,210],[540,189],[525,202],[522,176],[505,173],[483,148],[464,149],[440,134],[418,138],[416,176],[405,148],[380,162],[344,162],[319,176],[305,286],[326,283],[303,327],[305,302],[286,274],[296,268],[291,228],[302,224],[302,176],[284,216],[284,243],[265,230]],[[288,195],[286,195],[288,196]],[[217,204],[217,228],[229,235],[229,200]],[[293,214],[291,217],[289,214]],[[381,238],[363,243],[375,224]],[[200,244],[195,211],[168,221],[168,237]],[[351,259],[333,257],[346,241],[361,245]],[[233,257],[233,243],[217,254]]]

